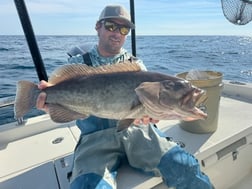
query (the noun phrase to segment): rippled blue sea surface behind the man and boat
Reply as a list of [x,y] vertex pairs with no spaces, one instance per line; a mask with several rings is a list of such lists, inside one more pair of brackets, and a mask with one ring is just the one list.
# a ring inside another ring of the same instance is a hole
[[[96,36],[37,36],[48,76],[67,63],[67,52],[91,46]],[[190,70],[223,73],[223,79],[252,83],[252,37],[246,36],[138,36],[137,56],[148,70],[175,75]],[[131,39],[125,46],[131,52]],[[38,77],[24,36],[0,35],[0,99],[15,95],[16,83]],[[27,117],[41,114],[33,110]],[[0,109],[0,125],[13,121],[13,106]]]

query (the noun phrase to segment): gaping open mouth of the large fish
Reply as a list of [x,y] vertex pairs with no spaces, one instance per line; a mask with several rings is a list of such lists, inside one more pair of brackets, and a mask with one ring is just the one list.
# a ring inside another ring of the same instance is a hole
[[206,119],[207,114],[197,107],[206,100],[206,91],[196,87],[184,97],[182,107],[190,110],[195,119]]

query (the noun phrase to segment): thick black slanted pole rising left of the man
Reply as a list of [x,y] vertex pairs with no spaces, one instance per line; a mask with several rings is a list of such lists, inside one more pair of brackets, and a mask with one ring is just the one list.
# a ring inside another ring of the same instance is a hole
[[48,80],[24,0],[14,0],[39,80]]

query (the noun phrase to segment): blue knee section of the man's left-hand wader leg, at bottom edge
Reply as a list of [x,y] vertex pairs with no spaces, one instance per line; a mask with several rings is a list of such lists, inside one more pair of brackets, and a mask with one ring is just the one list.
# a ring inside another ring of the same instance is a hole
[[102,176],[95,173],[80,175],[70,184],[70,189],[112,189]]

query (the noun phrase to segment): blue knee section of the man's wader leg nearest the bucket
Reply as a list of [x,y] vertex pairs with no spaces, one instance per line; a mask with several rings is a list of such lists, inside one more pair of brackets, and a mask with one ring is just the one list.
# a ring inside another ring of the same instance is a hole
[[169,187],[212,188],[208,176],[201,172],[198,160],[178,146],[161,158],[158,169]]

